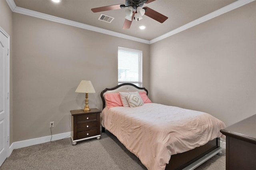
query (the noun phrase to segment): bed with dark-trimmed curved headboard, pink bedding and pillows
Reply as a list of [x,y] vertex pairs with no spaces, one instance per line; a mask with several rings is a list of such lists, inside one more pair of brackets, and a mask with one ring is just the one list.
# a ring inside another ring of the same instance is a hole
[[152,103],[147,95],[146,88],[130,83],[106,88],[101,92],[101,123],[102,132],[106,128],[114,134],[148,170],[195,169],[221,152],[222,121]]

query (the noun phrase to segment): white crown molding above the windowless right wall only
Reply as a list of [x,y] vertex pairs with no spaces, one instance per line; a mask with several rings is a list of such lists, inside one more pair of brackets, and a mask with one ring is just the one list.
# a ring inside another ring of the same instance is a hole
[[232,4],[224,6],[223,8],[220,8],[220,9],[218,9],[218,10],[216,10],[216,11],[210,13],[210,14],[202,16],[201,18],[198,18],[198,19],[196,19],[196,20],[194,20],[192,22],[189,22],[188,24],[185,24],[185,25],[183,25],[183,26],[181,26],[179,28],[176,28],[175,30],[172,30],[172,31],[170,31],[170,32],[168,32],[166,34],[163,34],[162,36],[159,36],[157,38],[154,38],[154,39],[150,40],[150,44],[158,42],[160,40],[163,40],[163,39],[165,39],[167,37],[173,36],[174,34],[177,34],[179,32],[187,30],[188,28],[191,28],[193,26],[196,26],[198,24],[206,22],[206,21],[208,21],[208,20],[210,20],[212,18],[215,18],[217,16],[225,14],[226,12],[229,12],[231,10],[239,8],[239,7],[241,7],[241,6],[245,5],[245,4],[248,4],[248,3],[253,2],[253,1],[255,1],[255,0],[238,0],[236,2],[233,2]]

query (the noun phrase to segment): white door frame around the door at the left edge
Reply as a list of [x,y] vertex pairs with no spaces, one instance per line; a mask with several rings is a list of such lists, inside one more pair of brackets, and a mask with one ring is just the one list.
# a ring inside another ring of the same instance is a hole
[[4,34],[6,38],[8,39],[8,57],[7,57],[7,81],[5,82],[6,88],[7,88],[7,107],[6,107],[6,134],[7,134],[7,157],[10,156],[10,36],[7,34],[6,31],[0,26],[0,33]]

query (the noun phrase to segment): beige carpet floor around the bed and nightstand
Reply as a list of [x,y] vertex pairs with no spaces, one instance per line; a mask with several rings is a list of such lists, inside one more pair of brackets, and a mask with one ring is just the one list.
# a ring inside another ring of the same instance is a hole
[[[0,170],[146,170],[110,132],[78,142],[71,138],[13,150]],[[225,150],[196,170],[225,170]]]

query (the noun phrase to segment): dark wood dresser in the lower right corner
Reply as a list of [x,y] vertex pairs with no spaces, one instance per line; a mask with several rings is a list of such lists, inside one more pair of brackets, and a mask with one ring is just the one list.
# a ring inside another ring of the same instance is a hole
[[256,115],[225,129],[226,170],[256,170]]

